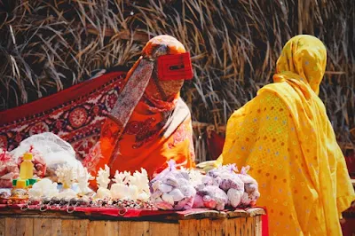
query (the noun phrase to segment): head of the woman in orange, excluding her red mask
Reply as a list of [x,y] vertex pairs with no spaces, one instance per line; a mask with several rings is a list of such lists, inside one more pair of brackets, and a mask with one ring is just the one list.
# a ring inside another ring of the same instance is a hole
[[160,81],[157,77],[156,59],[163,55],[180,54],[185,52],[185,47],[176,38],[170,35],[155,36],[143,48],[143,59],[154,59],[154,72],[146,87],[146,95],[150,98],[168,101],[175,98],[184,84],[184,79]]

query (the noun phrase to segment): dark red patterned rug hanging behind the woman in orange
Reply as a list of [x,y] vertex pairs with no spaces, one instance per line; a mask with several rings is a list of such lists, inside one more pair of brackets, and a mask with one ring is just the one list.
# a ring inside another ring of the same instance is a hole
[[33,134],[51,131],[69,142],[78,158],[83,158],[99,139],[101,123],[114,106],[125,73],[106,73],[0,112],[0,147],[12,150]]

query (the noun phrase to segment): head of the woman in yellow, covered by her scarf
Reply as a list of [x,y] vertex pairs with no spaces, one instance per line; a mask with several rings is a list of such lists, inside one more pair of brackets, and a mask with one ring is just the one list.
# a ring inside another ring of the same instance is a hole
[[304,78],[317,94],[327,65],[327,49],[312,35],[297,35],[285,44],[276,72],[292,72]]

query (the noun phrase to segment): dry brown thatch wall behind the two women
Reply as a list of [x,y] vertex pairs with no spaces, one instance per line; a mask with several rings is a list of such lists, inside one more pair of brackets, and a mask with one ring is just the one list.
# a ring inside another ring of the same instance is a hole
[[[0,107],[7,109],[128,65],[146,40],[174,35],[193,55],[183,96],[193,120],[223,126],[265,83],[287,40],[318,36],[327,46],[320,98],[343,148],[355,137],[355,1],[0,2]],[[351,136],[352,132],[352,136]]]

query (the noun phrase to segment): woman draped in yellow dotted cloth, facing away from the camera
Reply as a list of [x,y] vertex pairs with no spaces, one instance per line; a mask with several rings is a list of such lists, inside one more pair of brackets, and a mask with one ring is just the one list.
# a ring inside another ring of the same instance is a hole
[[355,193],[320,98],[327,51],[297,35],[277,61],[274,83],[230,117],[217,162],[249,165],[271,235],[342,235],[339,218]]

